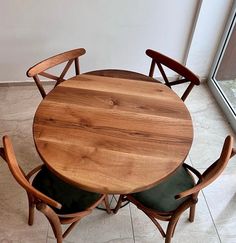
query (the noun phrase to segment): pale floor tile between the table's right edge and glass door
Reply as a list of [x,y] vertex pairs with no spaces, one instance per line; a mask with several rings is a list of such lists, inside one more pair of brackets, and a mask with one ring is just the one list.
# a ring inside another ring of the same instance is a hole
[[[191,99],[186,101],[186,105],[191,112],[194,126],[190,159],[194,167],[207,168],[219,156],[225,137],[232,135],[236,139],[236,136],[206,84],[193,89]],[[229,166],[234,165],[236,159]]]

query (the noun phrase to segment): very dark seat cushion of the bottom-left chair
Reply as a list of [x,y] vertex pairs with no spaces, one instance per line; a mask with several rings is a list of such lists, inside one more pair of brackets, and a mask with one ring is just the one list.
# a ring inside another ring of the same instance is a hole
[[76,213],[95,203],[101,194],[84,191],[72,186],[50,172],[46,166],[34,178],[32,185],[40,192],[62,204],[58,214]]

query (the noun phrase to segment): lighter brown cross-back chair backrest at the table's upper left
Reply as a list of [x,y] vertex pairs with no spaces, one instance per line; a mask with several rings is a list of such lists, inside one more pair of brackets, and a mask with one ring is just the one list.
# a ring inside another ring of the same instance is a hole
[[[62,81],[65,80],[64,77],[73,62],[75,64],[75,74],[76,75],[80,74],[79,57],[84,55],[85,53],[86,53],[86,51],[84,48],[78,48],[78,49],[70,50],[70,51],[49,57],[49,58],[37,63],[33,67],[29,68],[28,71],[26,72],[26,75],[28,77],[33,77],[42,97],[44,98],[46,96],[46,91],[43,88],[42,82],[39,79],[39,75],[49,78],[51,80],[55,80],[56,81],[55,86],[57,86],[59,83],[61,83]],[[46,70],[53,68],[64,62],[67,62],[67,63],[59,76],[45,72]]]

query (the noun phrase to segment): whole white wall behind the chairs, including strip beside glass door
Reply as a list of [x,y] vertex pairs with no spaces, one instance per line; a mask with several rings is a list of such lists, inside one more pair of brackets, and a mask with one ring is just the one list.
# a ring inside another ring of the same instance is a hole
[[[204,2],[188,62],[202,76],[232,1]],[[77,47],[87,50],[82,72],[148,73],[147,48],[181,61],[196,6],[197,0],[1,0],[0,81],[26,80],[31,65]]]

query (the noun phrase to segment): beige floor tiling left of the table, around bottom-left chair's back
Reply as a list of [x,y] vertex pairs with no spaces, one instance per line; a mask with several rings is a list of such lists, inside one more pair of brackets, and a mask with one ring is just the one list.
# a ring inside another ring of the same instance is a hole
[[[1,87],[0,135],[10,135],[20,165],[26,172],[36,164],[38,155],[33,146],[32,119],[40,101],[34,86]],[[4,103],[3,103],[4,102]],[[28,226],[26,192],[15,182],[2,159],[0,163],[0,242],[46,242],[48,221],[35,213],[35,223]]]

